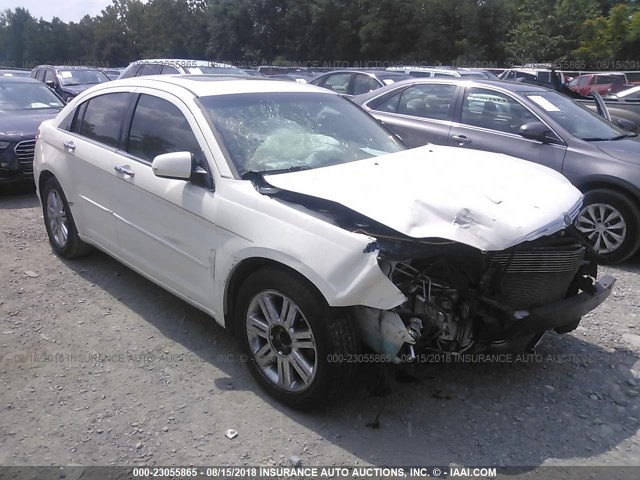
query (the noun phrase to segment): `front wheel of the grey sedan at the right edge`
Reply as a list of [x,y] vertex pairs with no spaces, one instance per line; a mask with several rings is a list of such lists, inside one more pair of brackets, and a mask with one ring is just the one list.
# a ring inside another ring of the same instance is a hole
[[638,207],[615,190],[587,192],[576,227],[601,255],[603,263],[623,262],[640,247]]

